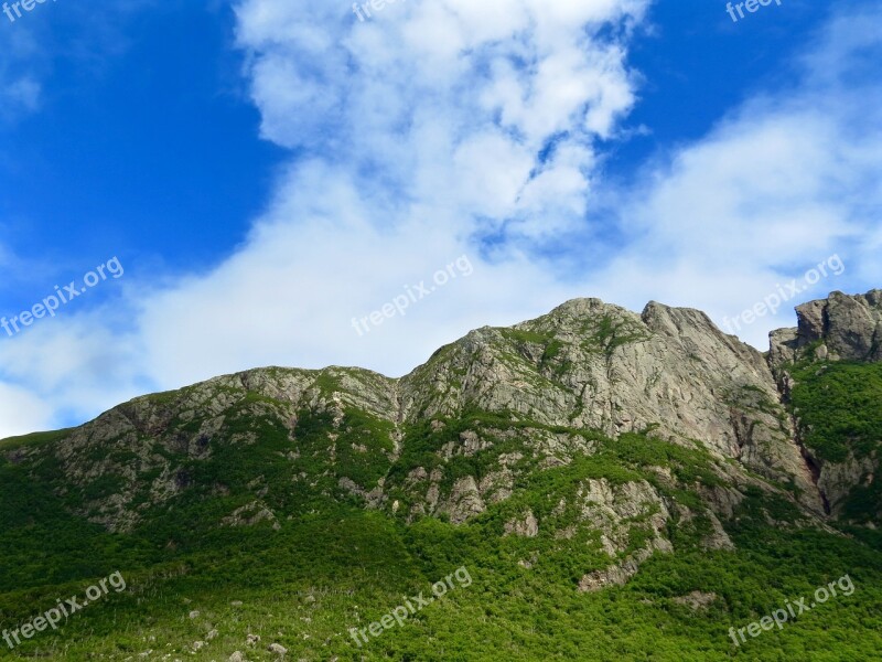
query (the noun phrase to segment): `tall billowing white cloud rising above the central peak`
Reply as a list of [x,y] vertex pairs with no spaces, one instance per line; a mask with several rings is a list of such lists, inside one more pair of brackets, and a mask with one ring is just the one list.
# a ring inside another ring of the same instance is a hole
[[[451,0],[359,22],[243,2],[262,135],[300,158],[237,255],[144,301],[152,373],[170,386],[280,362],[401,374],[472,327],[572,293],[529,255],[482,260],[471,238],[583,222],[594,140],[635,99],[623,40],[643,4]],[[353,317],[460,255],[472,276],[356,334]]]

